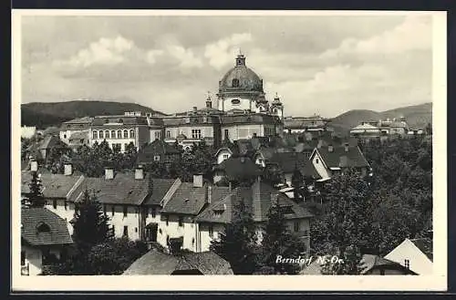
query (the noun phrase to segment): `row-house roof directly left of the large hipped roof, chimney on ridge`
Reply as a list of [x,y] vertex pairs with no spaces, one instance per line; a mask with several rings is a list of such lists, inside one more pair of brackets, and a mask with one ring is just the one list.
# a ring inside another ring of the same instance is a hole
[[[222,199],[228,192],[228,187],[211,186],[213,202]],[[208,184],[194,187],[192,182],[181,182],[181,185],[164,204],[161,212],[197,215],[207,202]]]

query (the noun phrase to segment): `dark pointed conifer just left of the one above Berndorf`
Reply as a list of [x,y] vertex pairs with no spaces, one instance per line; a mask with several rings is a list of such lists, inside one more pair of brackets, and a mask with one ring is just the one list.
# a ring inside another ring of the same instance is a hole
[[258,238],[252,213],[244,201],[235,203],[233,221],[219,240],[212,240],[210,250],[227,260],[233,274],[254,274],[257,269]]

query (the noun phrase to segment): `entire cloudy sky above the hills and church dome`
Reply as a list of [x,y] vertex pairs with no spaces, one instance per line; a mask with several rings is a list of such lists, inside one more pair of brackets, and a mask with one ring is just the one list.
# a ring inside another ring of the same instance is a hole
[[202,107],[238,49],[285,115],[431,100],[430,16],[23,16],[22,102]]

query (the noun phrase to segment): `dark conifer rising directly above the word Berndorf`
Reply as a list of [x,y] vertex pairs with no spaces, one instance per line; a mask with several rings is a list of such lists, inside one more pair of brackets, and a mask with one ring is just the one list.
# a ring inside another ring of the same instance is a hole
[[[277,257],[296,258],[306,252],[306,245],[288,230],[285,208],[272,203],[267,214],[262,241],[262,274],[297,274],[298,264],[276,263]],[[264,271],[267,270],[267,271]]]

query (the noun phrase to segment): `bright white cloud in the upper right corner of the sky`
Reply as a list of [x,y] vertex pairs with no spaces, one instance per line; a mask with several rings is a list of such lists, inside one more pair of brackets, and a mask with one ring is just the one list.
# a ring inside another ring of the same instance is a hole
[[406,16],[404,22],[380,35],[366,39],[347,38],[339,47],[326,50],[320,57],[356,54],[398,54],[409,50],[427,50],[432,45],[429,16]]

